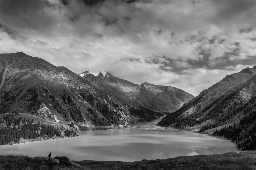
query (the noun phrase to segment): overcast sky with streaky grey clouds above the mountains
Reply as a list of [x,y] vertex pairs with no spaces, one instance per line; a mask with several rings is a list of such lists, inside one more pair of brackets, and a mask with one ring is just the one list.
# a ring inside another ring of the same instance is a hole
[[0,0],[0,53],[18,51],[197,96],[256,66],[256,1]]

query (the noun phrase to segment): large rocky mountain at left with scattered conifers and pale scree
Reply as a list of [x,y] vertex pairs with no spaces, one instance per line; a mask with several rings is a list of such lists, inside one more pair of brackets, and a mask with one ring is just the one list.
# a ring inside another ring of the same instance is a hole
[[0,54],[0,112],[33,114],[51,124],[128,126],[128,109],[86,79],[22,52]]

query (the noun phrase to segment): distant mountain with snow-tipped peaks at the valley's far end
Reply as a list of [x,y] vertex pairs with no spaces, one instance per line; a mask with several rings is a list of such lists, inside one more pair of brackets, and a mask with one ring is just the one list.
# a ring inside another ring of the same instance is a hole
[[175,87],[154,85],[147,82],[138,85],[114,77],[109,73],[103,75],[100,72],[98,76],[90,73],[80,73],[79,75],[83,76],[84,79],[98,89],[105,91],[124,103],[162,112],[173,112],[194,97],[184,90]]

